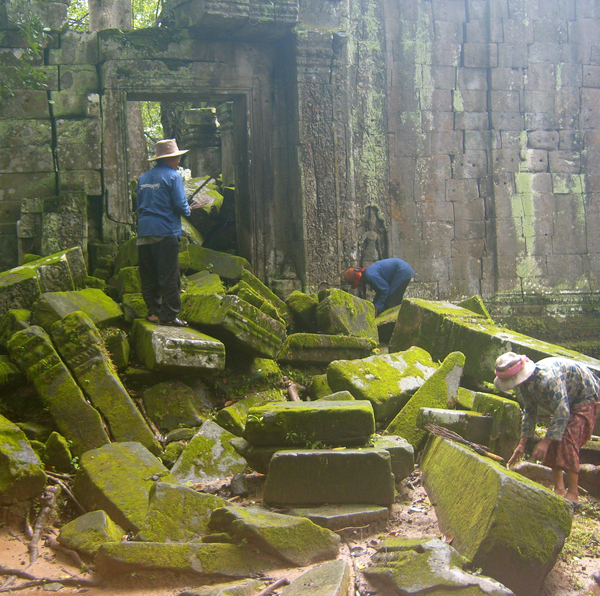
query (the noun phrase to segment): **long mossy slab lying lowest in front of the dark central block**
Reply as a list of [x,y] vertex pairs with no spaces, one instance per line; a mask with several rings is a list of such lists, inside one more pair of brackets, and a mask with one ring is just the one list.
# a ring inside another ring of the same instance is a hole
[[306,518],[260,507],[216,509],[209,527],[294,567],[335,559],[340,544],[339,536]]

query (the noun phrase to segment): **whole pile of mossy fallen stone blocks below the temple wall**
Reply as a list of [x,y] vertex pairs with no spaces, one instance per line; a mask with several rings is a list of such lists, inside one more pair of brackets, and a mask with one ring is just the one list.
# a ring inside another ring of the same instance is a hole
[[[78,248],[0,274],[6,511],[22,517],[59,487],[72,519],[57,543],[105,581],[168,570],[252,593],[261,574],[318,564],[281,594],[316,583],[345,594],[340,535],[385,528],[420,455],[452,546],[389,538],[364,577],[398,594],[538,593],[569,535],[569,505],[426,427],[506,459],[521,414],[490,385],[496,357],[565,350],[496,327],[476,297],[405,299],[376,318],[345,291],[284,300],[240,257],[181,249],[183,329],[146,319],[132,241],[108,283],[87,276]],[[592,472],[582,478],[597,489]]]

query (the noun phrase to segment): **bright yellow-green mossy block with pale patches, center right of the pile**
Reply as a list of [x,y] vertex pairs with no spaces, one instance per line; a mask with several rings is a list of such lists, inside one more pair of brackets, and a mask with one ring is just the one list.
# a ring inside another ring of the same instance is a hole
[[412,347],[397,354],[332,362],[327,383],[333,391],[350,391],[355,399],[370,401],[377,423],[388,424],[436,369],[425,350]]

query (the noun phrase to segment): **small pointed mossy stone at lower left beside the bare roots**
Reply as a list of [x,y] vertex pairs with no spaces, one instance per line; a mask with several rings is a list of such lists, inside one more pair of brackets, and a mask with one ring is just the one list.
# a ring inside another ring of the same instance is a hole
[[65,524],[58,542],[65,548],[94,556],[105,542],[121,542],[125,531],[104,511],[90,511]]

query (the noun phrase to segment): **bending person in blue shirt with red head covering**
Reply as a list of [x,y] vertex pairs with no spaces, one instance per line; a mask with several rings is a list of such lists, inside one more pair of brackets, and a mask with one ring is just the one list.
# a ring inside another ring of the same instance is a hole
[[344,279],[356,289],[368,284],[375,290],[375,314],[402,303],[404,292],[415,274],[415,270],[402,259],[382,259],[368,267],[352,267]]

